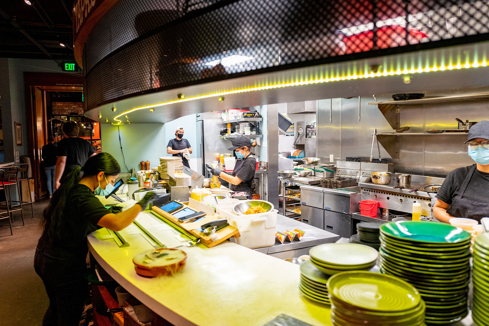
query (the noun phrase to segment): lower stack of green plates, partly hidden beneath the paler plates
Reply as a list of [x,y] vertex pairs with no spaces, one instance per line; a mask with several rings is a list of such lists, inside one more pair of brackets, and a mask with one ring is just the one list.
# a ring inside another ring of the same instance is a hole
[[329,276],[317,269],[311,261],[304,261],[300,270],[301,282],[299,283],[299,289],[302,294],[312,301],[330,304],[326,287]]

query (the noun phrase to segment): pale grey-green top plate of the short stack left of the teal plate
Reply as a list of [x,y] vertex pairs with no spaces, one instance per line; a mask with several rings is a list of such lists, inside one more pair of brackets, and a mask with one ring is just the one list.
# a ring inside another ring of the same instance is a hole
[[358,243],[324,243],[312,247],[309,256],[329,265],[353,267],[377,261],[378,253],[374,248]]

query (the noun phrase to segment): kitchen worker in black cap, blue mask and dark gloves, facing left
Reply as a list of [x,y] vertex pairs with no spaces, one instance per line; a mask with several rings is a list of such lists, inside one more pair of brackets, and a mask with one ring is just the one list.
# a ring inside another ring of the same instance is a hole
[[246,136],[238,136],[233,142],[233,146],[228,147],[228,151],[235,151],[238,161],[234,166],[231,175],[219,169],[211,169],[212,175],[219,176],[222,180],[229,182],[232,191],[244,191],[251,196],[251,185],[256,171],[256,159],[251,155],[251,147],[257,145],[256,140],[251,140]]

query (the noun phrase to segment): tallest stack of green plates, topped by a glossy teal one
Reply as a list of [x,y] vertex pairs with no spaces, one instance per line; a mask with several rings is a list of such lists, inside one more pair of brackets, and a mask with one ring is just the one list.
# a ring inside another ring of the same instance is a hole
[[446,223],[389,222],[380,226],[380,272],[413,284],[426,303],[426,324],[467,316],[470,234]]

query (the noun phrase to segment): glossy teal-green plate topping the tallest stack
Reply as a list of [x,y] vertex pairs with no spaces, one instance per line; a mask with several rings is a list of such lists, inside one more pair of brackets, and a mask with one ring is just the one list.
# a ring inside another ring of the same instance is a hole
[[433,244],[470,241],[470,233],[462,228],[431,221],[388,222],[380,225],[380,233],[403,241]]

